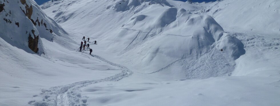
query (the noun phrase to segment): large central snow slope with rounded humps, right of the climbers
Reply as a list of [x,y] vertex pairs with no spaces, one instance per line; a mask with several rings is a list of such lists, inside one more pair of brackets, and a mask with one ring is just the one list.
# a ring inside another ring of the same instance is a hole
[[59,0],[41,7],[63,27],[98,38],[105,52],[119,55],[140,73],[174,73],[173,67],[181,64],[171,79],[223,76],[245,53],[243,44],[212,17],[191,14],[199,8],[195,5],[166,0]]

